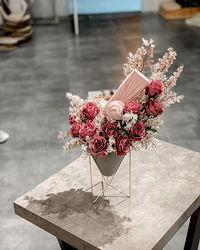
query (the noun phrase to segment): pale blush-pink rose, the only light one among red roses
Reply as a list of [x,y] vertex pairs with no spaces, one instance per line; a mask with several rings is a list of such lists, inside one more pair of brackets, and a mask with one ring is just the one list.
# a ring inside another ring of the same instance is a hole
[[107,117],[113,120],[121,120],[124,109],[124,103],[121,101],[109,102],[105,108],[105,114]]

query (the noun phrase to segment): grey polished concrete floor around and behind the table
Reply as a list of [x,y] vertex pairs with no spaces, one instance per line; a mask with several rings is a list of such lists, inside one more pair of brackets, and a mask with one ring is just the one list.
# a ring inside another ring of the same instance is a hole
[[[91,90],[116,88],[127,53],[141,37],[154,39],[156,56],[172,46],[178,52],[174,68],[185,65],[176,87],[184,101],[165,112],[159,137],[200,151],[200,29],[138,15],[81,19],[80,30],[75,38],[69,22],[35,26],[32,41],[0,52],[0,129],[11,136],[0,144],[1,250],[59,249],[53,236],[15,216],[12,201],[80,153],[64,154],[57,139],[67,126],[65,92],[86,97]],[[187,224],[165,249],[183,249],[186,231]]]

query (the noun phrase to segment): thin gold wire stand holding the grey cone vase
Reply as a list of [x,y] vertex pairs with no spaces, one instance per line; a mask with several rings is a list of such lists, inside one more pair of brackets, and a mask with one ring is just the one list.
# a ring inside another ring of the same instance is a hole
[[[95,163],[96,164],[96,163]],[[96,164],[97,165],[97,164]],[[92,162],[91,162],[91,156],[89,156],[89,170],[90,170],[90,187],[87,188],[85,191],[91,190],[91,198],[92,198],[92,203],[96,203],[96,201],[100,198],[100,197],[104,197],[104,198],[108,198],[108,197],[122,197],[125,199],[128,199],[131,197],[131,191],[132,191],[132,171],[131,171],[131,151],[129,152],[129,167],[128,167],[128,183],[129,183],[129,190],[128,190],[128,194],[122,192],[121,190],[119,190],[118,188],[116,188],[115,186],[113,186],[113,179],[115,178],[116,174],[117,174],[117,170],[116,172],[112,175],[112,176],[105,176],[102,174],[102,171],[99,169],[100,175],[101,175],[101,180],[97,183],[93,183],[93,173],[92,173]],[[101,185],[101,191],[99,192],[98,195],[94,194],[94,187]],[[117,191],[118,195],[105,195],[105,190],[107,188],[111,188],[115,191]]]

